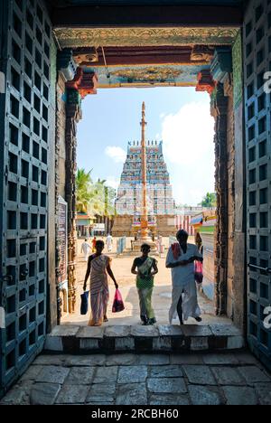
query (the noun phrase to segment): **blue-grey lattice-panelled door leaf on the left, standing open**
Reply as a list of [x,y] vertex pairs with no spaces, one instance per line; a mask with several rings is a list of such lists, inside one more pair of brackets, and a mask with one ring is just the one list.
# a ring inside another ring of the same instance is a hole
[[42,1],[2,4],[3,393],[42,350],[45,339],[51,24]]

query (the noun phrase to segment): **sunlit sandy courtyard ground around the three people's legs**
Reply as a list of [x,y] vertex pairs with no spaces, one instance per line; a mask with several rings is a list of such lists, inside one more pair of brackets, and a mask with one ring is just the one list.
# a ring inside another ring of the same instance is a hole
[[[101,238],[98,238],[101,239]],[[80,247],[83,240],[78,241],[78,268],[77,268],[77,305],[76,313],[72,315],[66,315],[62,317],[62,324],[87,324],[89,320],[89,315],[80,315],[80,294],[83,292],[83,282],[86,273],[87,264],[84,261],[83,255],[80,253]],[[164,244],[168,247],[168,239],[164,239]],[[138,305],[138,296],[135,287],[135,275],[131,274],[131,267],[135,256],[129,256],[127,254],[123,256],[118,256],[117,251],[117,240],[114,240],[114,247],[112,253],[108,255],[112,258],[112,270],[117,279],[119,285],[119,290],[123,296],[126,309],[117,314],[111,312],[112,302],[115,294],[115,287],[113,281],[108,277],[109,288],[110,288],[110,300],[107,309],[107,317],[109,322],[105,325],[113,324],[139,324],[139,305]],[[127,239],[126,246],[130,246],[130,240]],[[107,248],[105,249],[105,254],[107,254]],[[171,283],[171,270],[165,268],[165,254],[162,257],[156,257],[158,260],[159,273],[154,279],[154,293],[153,293],[153,305],[156,315],[157,322],[159,324],[168,324],[168,311],[171,304],[171,292],[172,292],[172,283]],[[212,302],[199,295],[199,304],[202,311],[202,324],[210,323],[221,323],[227,324],[230,323],[229,319],[225,317],[217,317],[214,315],[214,308]],[[178,324],[176,320],[175,324]],[[195,324],[194,319],[189,319],[189,324]]]

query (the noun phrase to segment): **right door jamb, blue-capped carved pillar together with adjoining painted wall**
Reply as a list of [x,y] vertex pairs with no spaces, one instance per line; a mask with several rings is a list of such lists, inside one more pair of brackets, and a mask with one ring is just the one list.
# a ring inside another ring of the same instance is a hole
[[245,158],[242,42],[217,49],[211,63],[217,82],[211,100],[215,118],[217,226],[215,230],[215,310],[241,329],[245,321]]

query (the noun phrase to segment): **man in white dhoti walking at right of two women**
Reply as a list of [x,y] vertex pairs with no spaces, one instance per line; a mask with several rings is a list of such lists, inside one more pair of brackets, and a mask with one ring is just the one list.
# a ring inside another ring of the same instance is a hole
[[176,234],[178,242],[168,250],[166,268],[172,269],[173,299],[169,311],[170,324],[178,314],[180,324],[193,317],[201,322],[201,309],[198,305],[197,288],[194,277],[194,261],[202,262],[203,258],[194,244],[187,243],[188,233],[179,230]]

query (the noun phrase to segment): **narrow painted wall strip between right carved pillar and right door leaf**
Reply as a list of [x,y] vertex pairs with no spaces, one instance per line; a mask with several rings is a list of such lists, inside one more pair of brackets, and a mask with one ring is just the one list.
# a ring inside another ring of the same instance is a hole
[[[224,272],[227,284],[225,291],[220,288],[220,297],[226,305],[227,315],[240,329],[244,329],[246,321],[246,159],[242,75],[242,42],[241,33],[238,33],[232,49],[232,73],[229,73],[224,81],[224,96],[227,98],[227,186],[224,189],[227,195],[227,220],[223,228],[227,230],[227,254],[224,255],[225,258],[227,256],[227,271]],[[223,156],[221,157],[223,159]],[[220,237],[216,236],[216,239],[219,240]],[[220,250],[217,249],[218,251]],[[219,285],[224,277],[220,274],[217,278]],[[223,299],[224,293],[226,298]]]

